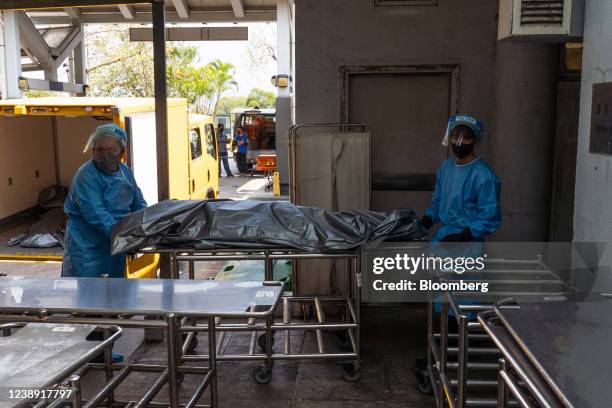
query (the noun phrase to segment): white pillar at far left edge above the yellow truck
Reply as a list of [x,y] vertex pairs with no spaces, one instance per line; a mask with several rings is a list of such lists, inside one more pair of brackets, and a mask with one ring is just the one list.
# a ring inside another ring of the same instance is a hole
[[17,12],[4,11],[2,33],[2,99],[21,98],[19,77],[21,76],[21,37]]

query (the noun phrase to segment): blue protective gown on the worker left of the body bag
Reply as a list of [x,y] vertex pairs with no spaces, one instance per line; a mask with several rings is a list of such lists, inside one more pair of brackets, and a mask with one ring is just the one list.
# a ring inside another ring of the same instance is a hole
[[68,226],[62,276],[124,277],[125,255],[111,256],[110,231],[123,217],[146,206],[125,164],[112,174],[98,170],[91,160],[83,164],[64,204]]

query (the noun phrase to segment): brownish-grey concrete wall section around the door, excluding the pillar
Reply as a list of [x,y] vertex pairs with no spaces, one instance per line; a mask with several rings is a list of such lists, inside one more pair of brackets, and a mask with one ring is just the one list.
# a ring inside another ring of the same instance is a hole
[[490,124],[496,14],[491,0],[440,0],[431,7],[297,0],[296,123],[340,120],[341,66],[459,63],[459,108]]

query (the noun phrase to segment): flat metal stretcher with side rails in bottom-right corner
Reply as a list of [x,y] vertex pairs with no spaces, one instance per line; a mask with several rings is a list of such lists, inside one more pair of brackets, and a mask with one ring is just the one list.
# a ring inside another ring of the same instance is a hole
[[520,303],[478,320],[503,354],[498,406],[512,396],[524,408],[612,404],[612,304]]

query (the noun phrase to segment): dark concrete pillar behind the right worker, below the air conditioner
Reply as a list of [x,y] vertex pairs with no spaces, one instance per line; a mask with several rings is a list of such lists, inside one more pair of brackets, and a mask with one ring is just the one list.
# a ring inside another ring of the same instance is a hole
[[547,241],[559,46],[499,42],[491,164],[500,176],[496,241]]

